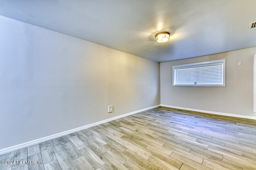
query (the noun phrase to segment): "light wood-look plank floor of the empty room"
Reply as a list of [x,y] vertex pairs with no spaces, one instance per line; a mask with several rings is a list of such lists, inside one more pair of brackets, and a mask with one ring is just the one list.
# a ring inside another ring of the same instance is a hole
[[158,107],[0,156],[0,170],[256,170],[256,121]]

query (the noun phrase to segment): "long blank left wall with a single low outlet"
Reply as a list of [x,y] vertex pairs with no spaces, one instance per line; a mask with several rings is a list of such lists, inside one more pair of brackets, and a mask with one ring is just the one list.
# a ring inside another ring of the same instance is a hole
[[3,16],[0,25],[0,149],[160,104],[159,63]]

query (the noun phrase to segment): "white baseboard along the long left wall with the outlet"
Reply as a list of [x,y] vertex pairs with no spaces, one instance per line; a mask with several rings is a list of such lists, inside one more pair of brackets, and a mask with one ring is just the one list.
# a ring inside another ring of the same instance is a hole
[[107,123],[107,122],[112,121],[112,120],[120,119],[122,117],[133,115],[135,113],[139,113],[139,112],[142,112],[142,111],[145,111],[145,110],[153,109],[153,108],[156,108],[156,107],[159,107],[159,106],[160,106],[160,104],[156,105],[156,106],[148,107],[148,108],[145,108],[145,109],[140,109],[140,110],[137,110],[137,111],[133,111],[133,112],[130,112],[130,113],[126,113],[124,115],[112,117],[110,119],[106,119],[106,120],[103,120],[103,121],[98,121],[98,122],[92,123],[90,125],[85,125],[85,126],[82,126],[82,127],[78,127],[78,128],[75,128],[75,129],[71,129],[71,130],[68,130],[68,131],[57,133],[55,135],[50,135],[50,136],[47,136],[47,137],[36,139],[34,141],[29,141],[29,142],[26,142],[26,143],[22,143],[20,145],[15,145],[13,147],[8,147],[8,148],[5,148],[5,149],[1,149],[0,150],[0,155],[9,153],[9,152],[12,152],[12,151],[15,151],[15,150],[23,149],[23,148],[26,148],[26,147],[30,147],[32,145],[36,145],[36,144],[39,144],[39,143],[42,143],[42,142],[45,142],[45,141],[49,141],[51,139],[62,137],[62,136],[68,135],[70,133],[74,133],[74,132],[77,132],[77,131],[88,129],[90,127],[94,127],[94,126],[97,126],[97,125],[100,125],[100,124],[103,124],[103,123]]

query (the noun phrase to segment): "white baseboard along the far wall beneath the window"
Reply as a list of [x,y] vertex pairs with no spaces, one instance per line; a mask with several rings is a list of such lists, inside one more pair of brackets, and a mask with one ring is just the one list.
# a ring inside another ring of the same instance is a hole
[[169,106],[165,104],[161,104],[161,106],[164,107],[171,107],[174,109],[184,109],[184,110],[190,110],[190,111],[198,111],[198,112],[203,112],[203,113],[210,113],[214,115],[223,115],[223,116],[230,116],[230,117],[239,117],[239,118],[244,118],[244,119],[256,119],[254,116],[245,116],[245,115],[236,115],[236,114],[230,114],[230,113],[221,113],[221,112],[216,112],[216,111],[207,111],[207,110],[199,110],[199,109],[190,109],[186,107],[178,107],[178,106]]

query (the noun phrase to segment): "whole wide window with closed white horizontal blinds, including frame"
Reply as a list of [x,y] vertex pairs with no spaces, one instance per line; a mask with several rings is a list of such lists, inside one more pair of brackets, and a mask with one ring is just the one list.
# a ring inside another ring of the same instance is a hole
[[226,60],[172,66],[173,86],[226,86]]

